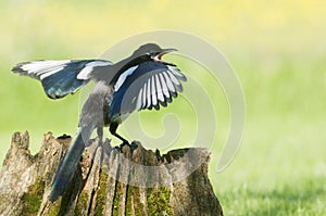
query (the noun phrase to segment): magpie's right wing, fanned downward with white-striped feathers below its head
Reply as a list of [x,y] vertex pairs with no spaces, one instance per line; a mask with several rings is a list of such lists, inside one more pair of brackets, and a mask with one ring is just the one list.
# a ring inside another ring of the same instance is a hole
[[153,61],[133,66],[122,73],[114,86],[110,105],[110,118],[133,111],[166,106],[177,92],[183,91],[180,81],[186,81],[181,72],[173,66]]

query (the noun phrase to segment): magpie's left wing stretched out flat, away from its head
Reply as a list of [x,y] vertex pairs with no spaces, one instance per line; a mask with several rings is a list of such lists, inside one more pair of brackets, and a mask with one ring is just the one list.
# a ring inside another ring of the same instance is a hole
[[112,65],[104,60],[33,61],[17,64],[13,73],[41,81],[51,99],[63,98],[86,85],[96,67]]

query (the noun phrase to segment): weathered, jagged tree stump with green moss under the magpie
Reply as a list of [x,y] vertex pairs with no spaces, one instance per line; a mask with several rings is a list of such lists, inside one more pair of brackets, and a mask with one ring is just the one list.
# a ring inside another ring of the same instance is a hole
[[210,152],[160,152],[139,142],[112,148],[106,139],[84,151],[67,190],[48,196],[68,136],[43,137],[32,155],[27,132],[15,132],[0,173],[0,215],[223,215],[208,178]]

